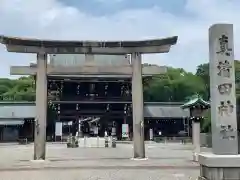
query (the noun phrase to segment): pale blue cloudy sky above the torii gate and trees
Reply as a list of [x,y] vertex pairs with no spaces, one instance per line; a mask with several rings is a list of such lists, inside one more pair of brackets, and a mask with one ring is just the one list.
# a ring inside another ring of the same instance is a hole
[[[208,61],[208,28],[234,24],[240,59],[239,0],[0,0],[0,34],[66,40],[139,40],[179,36],[170,53],[145,62],[195,72]],[[34,55],[8,53],[0,45],[0,77]]]

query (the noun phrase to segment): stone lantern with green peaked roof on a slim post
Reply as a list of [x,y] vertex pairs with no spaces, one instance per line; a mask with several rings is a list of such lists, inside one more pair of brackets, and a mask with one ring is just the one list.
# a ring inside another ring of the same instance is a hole
[[190,110],[190,120],[192,121],[192,140],[194,146],[193,160],[198,161],[200,152],[200,122],[204,120],[204,113],[210,108],[210,103],[204,101],[200,96],[188,101],[181,106],[182,109]]

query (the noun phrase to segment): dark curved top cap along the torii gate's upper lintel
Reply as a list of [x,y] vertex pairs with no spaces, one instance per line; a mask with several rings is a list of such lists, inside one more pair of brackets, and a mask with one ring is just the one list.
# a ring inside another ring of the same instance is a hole
[[11,36],[0,36],[0,43],[5,45],[22,45],[22,46],[37,46],[37,47],[148,47],[148,46],[163,46],[175,45],[177,43],[177,36],[152,39],[143,41],[61,41],[61,40],[42,40],[19,38]]

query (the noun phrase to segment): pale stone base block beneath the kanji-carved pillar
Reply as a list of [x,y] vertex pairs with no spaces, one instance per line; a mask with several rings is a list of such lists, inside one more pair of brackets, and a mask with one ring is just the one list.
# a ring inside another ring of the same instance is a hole
[[199,154],[199,180],[240,179],[240,155]]

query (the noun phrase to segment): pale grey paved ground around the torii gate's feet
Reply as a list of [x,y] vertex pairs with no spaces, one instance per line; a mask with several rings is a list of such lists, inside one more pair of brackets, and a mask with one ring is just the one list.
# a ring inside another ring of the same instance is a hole
[[131,160],[132,144],[117,148],[66,148],[48,144],[47,160],[33,162],[33,145],[0,145],[4,180],[188,180],[197,179],[191,145],[147,144],[148,160]]

